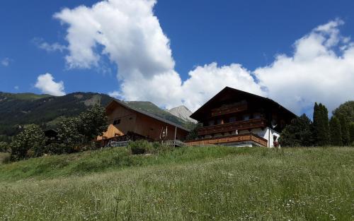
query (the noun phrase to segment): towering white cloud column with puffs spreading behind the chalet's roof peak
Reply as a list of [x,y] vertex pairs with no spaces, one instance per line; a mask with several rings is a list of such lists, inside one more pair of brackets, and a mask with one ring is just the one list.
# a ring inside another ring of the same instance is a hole
[[246,74],[249,71],[239,64],[198,66],[183,82],[174,71],[169,38],[154,16],[154,4],[152,0],[110,0],[56,13],[55,18],[68,25],[67,64],[71,68],[91,68],[106,55],[117,64],[121,83],[120,91],[110,95],[150,100],[168,108],[185,104],[196,109],[226,85],[261,93]]

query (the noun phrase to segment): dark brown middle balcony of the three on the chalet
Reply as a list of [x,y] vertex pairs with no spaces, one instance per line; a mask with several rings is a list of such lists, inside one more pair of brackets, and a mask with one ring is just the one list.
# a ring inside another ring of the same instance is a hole
[[227,124],[218,124],[213,126],[203,126],[198,130],[198,135],[204,136],[214,133],[224,133],[236,130],[248,130],[255,128],[264,128],[266,126],[265,119],[250,119],[247,121],[236,121]]

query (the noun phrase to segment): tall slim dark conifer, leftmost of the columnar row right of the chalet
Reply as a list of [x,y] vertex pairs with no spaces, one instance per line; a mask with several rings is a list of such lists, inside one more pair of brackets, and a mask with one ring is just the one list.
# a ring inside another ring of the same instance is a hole
[[323,104],[314,104],[314,141],[316,145],[329,145],[329,115]]

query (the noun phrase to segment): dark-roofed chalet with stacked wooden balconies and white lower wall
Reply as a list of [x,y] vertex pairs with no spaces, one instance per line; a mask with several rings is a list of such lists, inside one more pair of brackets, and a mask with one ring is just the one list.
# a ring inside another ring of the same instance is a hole
[[273,147],[297,116],[269,98],[226,87],[190,117],[202,126],[189,145]]

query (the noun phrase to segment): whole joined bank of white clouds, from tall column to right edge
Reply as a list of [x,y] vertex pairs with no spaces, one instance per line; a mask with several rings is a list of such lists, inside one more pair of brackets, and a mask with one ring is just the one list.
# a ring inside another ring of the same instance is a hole
[[91,7],[64,8],[55,14],[67,27],[70,68],[99,66],[108,56],[118,66],[125,100],[150,100],[159,106],[185,104],[195,110],[225,86],[270,97],[300,114],[313,102],[330,111],[353,99],[353,42],[341,36],[342,20],[314,28],[269,66],[250,71],[241,64],[197,66],[181,79],[175,71],[170,41],[154,16],[155,0],[108,0]]

